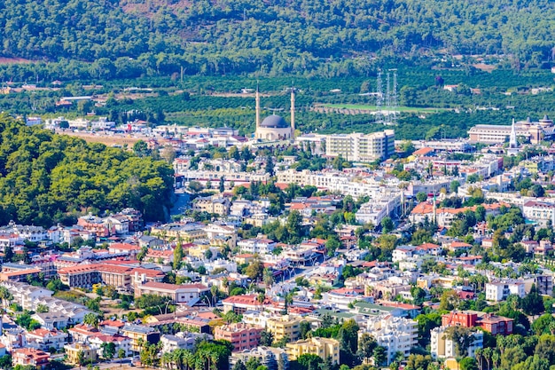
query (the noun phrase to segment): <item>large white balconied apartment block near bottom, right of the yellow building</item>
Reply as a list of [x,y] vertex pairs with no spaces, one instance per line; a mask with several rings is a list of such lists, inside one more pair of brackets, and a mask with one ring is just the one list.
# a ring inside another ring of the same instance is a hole
[[392,315],[369,317],[365,331],[376,339],[378,345],[387,349],[387,364],[395,358],[396,352],[407,358],[412,347],[418,343],[418,324],[412,319],[397,318]]

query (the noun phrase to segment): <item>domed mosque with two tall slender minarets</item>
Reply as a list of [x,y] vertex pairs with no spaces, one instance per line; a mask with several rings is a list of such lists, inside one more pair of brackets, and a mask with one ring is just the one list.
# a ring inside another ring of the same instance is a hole
[[291,124],[282,116],[271,114],[260,122],[260,93],[256,87],[256,132],[254,138],[264,141],[289,140],[295,132],[295,92],[291,89]]

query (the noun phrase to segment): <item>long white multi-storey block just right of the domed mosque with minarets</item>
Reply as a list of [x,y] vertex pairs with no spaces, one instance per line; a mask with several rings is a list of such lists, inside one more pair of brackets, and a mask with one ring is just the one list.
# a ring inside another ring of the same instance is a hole
[[328,135],[325,155],[342,156],[348,161],[376,161],[387,159],[395,152],[395,130]]

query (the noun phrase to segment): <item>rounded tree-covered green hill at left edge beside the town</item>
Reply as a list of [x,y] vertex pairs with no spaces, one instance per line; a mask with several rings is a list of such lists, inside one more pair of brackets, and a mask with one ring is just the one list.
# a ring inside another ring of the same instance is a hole
[[79,212],[139,209],[163,220],[173,169],[121,149],[88,144],[0,114],[0,224],[50,227]]

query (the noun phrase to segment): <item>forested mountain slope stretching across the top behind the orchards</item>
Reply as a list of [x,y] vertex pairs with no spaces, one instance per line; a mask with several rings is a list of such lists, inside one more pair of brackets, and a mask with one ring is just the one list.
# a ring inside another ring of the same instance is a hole
[[[4,56],[295,72],[371,52],[551,59],[551,0],[1,0]],[[160,54],[163,53],[163,54]],[[362,67],[363,68],[363,67]]]

